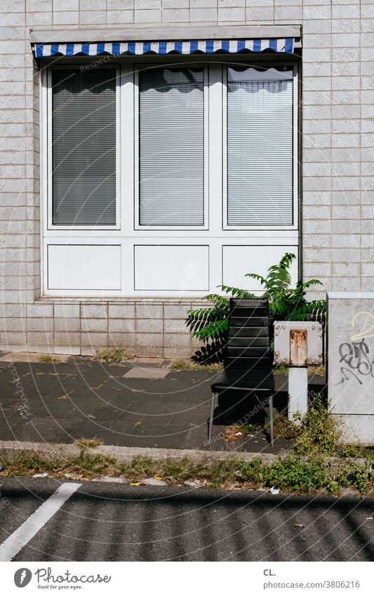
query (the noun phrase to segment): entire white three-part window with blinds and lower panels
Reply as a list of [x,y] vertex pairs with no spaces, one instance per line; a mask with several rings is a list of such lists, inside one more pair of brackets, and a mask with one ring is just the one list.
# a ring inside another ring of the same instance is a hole
[[69,60],[41,69],[46,294],[260,291],[244,275],[298,252],[297,68]]

